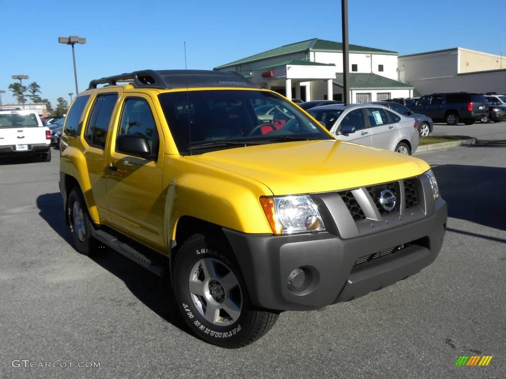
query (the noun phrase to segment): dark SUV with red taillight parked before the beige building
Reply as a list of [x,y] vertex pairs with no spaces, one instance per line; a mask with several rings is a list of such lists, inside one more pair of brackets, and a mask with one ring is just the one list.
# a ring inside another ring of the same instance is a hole
[[472,125],[488,115],[485,96],[471,92],[433,93],[419,98],[416,105],[407,107],[448,125],[456,125],[459,121]]

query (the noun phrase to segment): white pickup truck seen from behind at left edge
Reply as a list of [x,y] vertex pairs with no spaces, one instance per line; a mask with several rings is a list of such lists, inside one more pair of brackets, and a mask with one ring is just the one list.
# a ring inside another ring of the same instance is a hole
[[32,154],[51,161],[51,132],[33,111],[0,109],[0,157]]

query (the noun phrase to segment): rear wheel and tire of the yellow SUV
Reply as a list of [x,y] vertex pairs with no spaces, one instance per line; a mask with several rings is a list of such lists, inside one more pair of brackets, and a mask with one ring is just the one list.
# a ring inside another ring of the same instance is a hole
[[[78,209],[80,209],[80,212],[76,214],[76,210]],[[92,236],[92,230],[95,226],[88,214],[85,199],[77,187],[72,188],[68,196],[67,215],[70,223],[70,234],[77,251],[83,255],[97,253],[98,249],[102,248],[103,245]]]

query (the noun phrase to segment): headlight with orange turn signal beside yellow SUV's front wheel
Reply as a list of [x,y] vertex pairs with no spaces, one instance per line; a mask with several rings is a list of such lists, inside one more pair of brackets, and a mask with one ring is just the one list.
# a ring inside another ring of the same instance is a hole
[[325,230],[318,208],[308,195],[261,197],[260,203],[274,234]]

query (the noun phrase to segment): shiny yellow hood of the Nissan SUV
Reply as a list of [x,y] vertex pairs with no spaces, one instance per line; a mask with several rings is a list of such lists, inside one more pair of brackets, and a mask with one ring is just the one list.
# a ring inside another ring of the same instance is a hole
[[424,161],[338,140],[294,141],[187,157],[255,179],[274,195],[340,191],[420,175]]

